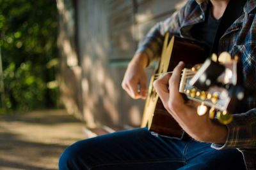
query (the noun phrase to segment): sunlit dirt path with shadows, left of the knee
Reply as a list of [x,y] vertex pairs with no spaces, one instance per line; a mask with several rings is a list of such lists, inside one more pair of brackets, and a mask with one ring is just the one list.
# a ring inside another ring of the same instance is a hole
[[86,137],[83,127],[64,110],[0,115],[0,169],[58,169],[63,150]]

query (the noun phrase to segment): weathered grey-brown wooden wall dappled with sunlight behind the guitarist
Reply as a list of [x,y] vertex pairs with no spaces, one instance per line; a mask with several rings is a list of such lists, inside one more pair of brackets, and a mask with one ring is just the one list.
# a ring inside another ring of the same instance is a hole
[[[57,2],[62,103],[90,127],[139,126],[145,101],[131,99],[121,88],[127,63],[150,27],[169,17],[183,1]],[[148,78],[151,73],[148,69]]]

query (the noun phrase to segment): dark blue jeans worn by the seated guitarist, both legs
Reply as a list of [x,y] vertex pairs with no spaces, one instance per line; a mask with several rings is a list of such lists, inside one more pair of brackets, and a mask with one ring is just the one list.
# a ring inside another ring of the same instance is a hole
[[145,128],[78,141],[62,153],[62,169],[245,169],[237,149],[215,150],[192,138],[152,135]]

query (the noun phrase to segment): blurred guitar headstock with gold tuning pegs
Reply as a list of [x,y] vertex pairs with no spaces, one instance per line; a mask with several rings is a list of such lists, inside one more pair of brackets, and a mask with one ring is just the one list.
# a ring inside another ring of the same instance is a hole
[[210,118],[217,117],[221,124],[232,121],[230,113],[244,97],[243,88],[237,85],[238,62],[225,52],[219,56],[219,63],[207,59],[203,64],[183,70],[179,91],[188,99],[202,103],[198,106],[198,115],[204,115],[211,108]]

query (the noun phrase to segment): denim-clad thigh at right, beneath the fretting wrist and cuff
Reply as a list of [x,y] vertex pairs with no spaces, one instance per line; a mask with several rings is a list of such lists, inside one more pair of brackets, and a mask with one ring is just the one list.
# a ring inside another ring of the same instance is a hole
[[243,155],[236,148],[215,150],[209,143],[191,141],[184,155],[187,164],[180,169],[246,169]]

